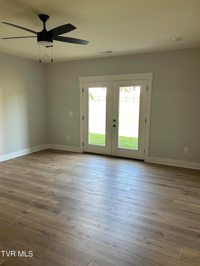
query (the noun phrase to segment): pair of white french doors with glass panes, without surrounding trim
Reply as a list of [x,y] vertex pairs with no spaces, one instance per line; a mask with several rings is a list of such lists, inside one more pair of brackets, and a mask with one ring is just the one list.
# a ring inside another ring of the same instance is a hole
[[83,82],[83,151],[144,160],[148,80]]

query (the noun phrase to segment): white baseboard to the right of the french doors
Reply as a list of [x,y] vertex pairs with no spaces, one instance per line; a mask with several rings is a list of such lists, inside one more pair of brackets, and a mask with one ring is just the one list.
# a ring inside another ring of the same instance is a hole
[[145,162],[153,162],[153,163],[158,163],[158,164],[166,164],[166,165],[200,170],[200,163],[198,162],[185,162],[185,161],[156,158],[156,157],[148,157],[147,160],[145,160]]

